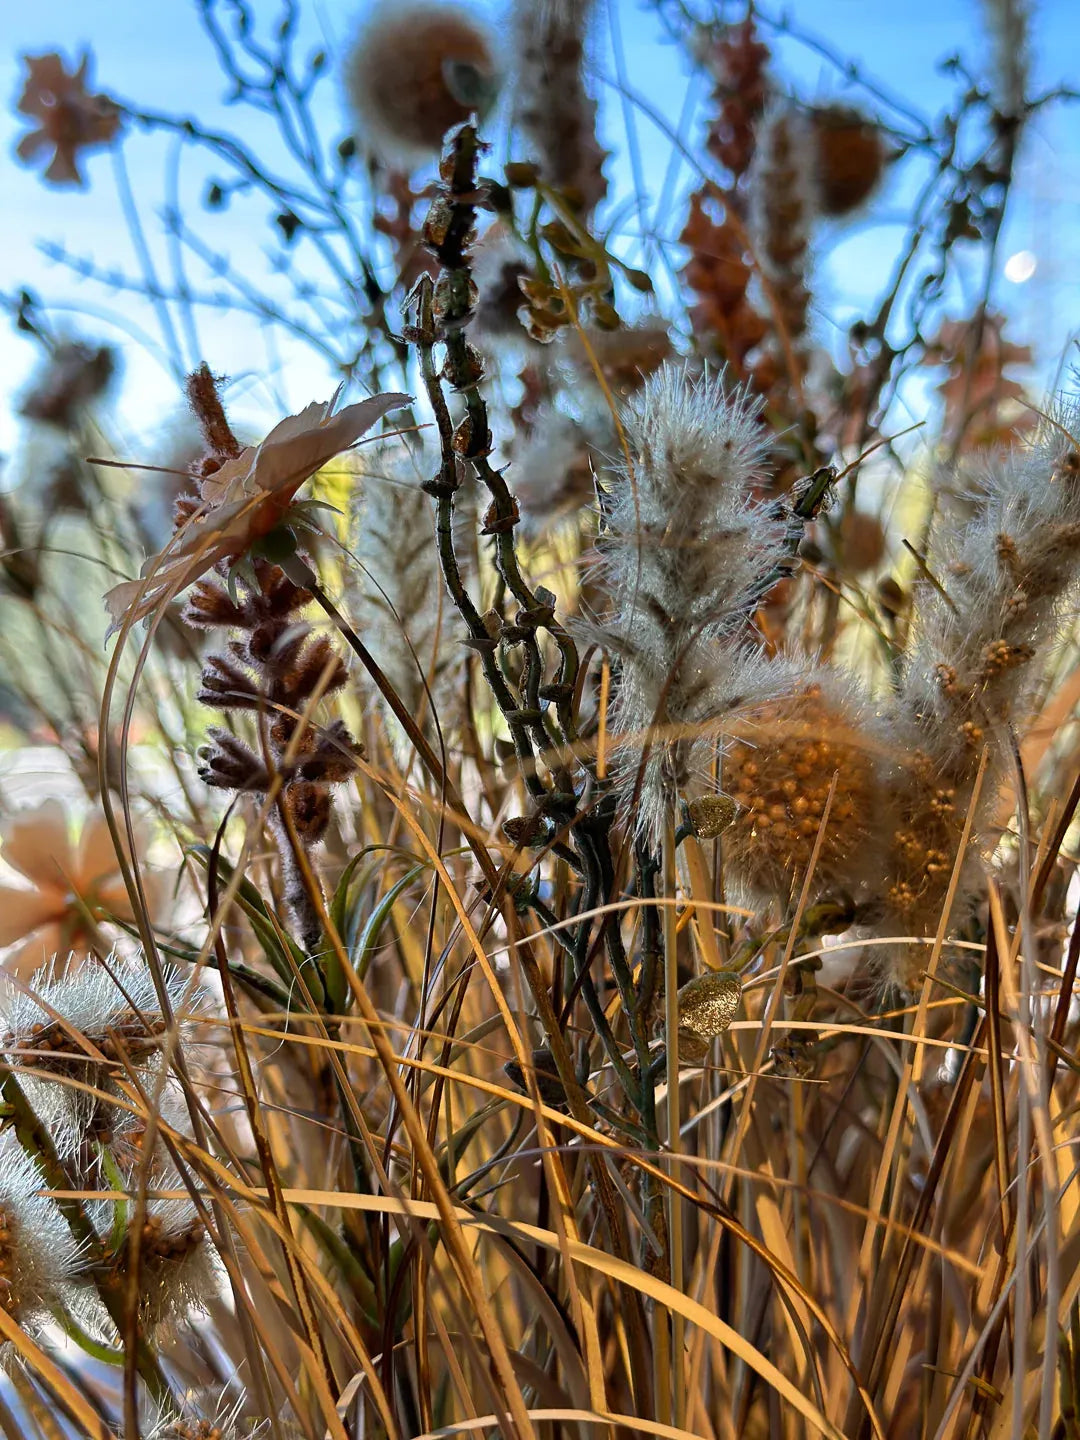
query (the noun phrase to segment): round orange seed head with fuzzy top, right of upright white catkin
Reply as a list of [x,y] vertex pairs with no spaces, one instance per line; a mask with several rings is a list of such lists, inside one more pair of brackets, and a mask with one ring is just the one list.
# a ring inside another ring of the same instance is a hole
[[798,890],[835,776],[814,887],[858,896],[876,877],[886,760],[868,704],[819,671],[783,698],[743,711],[723,759],[734,815],[723,831],[729,873],[756,899]]

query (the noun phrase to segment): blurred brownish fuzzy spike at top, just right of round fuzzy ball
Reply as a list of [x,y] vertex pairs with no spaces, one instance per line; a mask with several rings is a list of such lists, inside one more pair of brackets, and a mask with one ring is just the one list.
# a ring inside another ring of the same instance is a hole
[[608,190],[583,75],[592,9],[593,0],[516,0],[513,10],[514,120],[540,179],[585,212]]

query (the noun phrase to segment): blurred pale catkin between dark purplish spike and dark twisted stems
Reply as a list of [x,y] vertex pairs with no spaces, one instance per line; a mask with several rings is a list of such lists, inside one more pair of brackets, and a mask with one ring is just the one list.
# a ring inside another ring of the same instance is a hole
[[[432,730],[432,708],[452,729],[465,651],[455,611],[442,586],[432,503],[420,490],[431,474],[406,449],[370,462],[356,521],[354,554],[367,645],[409,713]],[[431,697],[429,697],[431,693]],[[382,697],[382,710],[399,763],[412,753],[400,724]]]

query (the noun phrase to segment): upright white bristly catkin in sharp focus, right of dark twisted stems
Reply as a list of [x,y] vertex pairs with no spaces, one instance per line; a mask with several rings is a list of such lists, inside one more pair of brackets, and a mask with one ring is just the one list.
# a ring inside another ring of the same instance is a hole
[[760,406],[723,376],[667,366],[622,416],[631,464],[605,503],[595,638],[618,662],[609,717],[625,806],[655,844],[723,717],[782,690],[747,644],[747,618],[783,562],[785,528],[753,498],[768,438]]

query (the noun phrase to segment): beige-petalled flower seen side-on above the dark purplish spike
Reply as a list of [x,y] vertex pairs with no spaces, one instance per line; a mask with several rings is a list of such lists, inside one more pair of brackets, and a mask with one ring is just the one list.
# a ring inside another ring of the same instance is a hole
[[334,413],[337,395],[289,415],[258,446],[248,446],[202,481],[202,504],[173,539],[143,566],[143,579],[125,580],[105,596],[109,635],[174,600],[219,560],[238,559],[288,518],[305,480],[354,445],[387,413],[412,397],[376,395]]

